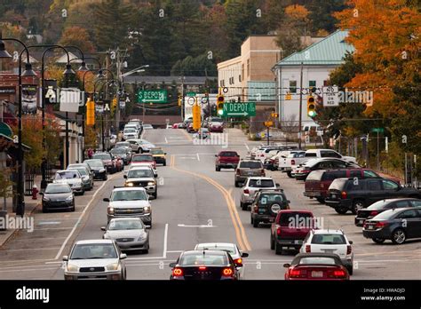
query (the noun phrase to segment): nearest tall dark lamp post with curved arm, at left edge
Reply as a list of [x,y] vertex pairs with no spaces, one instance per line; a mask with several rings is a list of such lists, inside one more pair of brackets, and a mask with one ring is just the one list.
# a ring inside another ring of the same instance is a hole
[[36,76],[36,73],[32,69],[32,65],[29,62],[29,52],[28,47],[22,41],[15,38],[2,38],[2,33],[0,32],[0,59],[12,58],[11,54],[5,50],[4,41],[13,41],[19,43],[23,46],[25,52],[27,53],[27,62],[25,63],[25,71],[22,73],[22,60],[19,58],[19,68],[18,68],[18,200],[16,207],[16,215],[23,217],[25,214],[25,200],[23,193],[23,154],[22,154],[22,76]]

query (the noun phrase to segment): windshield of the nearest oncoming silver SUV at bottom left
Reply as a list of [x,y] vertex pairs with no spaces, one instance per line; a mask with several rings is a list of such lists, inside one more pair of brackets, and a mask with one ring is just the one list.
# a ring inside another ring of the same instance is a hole
[[117,258],[117,251],[112,243],[77,244],[70,259]]

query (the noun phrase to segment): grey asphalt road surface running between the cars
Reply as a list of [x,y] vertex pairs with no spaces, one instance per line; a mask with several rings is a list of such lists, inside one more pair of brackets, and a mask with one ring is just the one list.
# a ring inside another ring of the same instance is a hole
[[[246,155],[256,145],[241,131],[230,130],[229,146]],[[245,258],[245,279],[283,280],[282,264],[297,254],[274,254],[269,247],[269,226],[250,225],[250,211],[239,207],[240,188],[234,187],[234,170],[215,171],[214,155],[221,145],[194,145],[184,130],[151,130],[144,139],[167,152],[167,166],[158,166],[158,198],[152,201],[154,226],[150,230],[148,254],[132,254],[126,260],[128,279],[167,280],[183,250],[198,242],[236,242],[250,253]],[[324,227],[342,228],[353,241],[355,270],[352,279],[421,279],[421,242],[396,246],[377,245],[364,239],[361,227],[353,225],[353,215],[334,210],[303,196],[304,182],[279,171],[267,172],[281,184],[291,201],[291,209],[312,210],[323,218]],[[91,192],[76,197],[76,211],[35,213],[32,233],[20,231],[0,250],[0,279],[63,279],[61,257],[76,240],[101,238],[107,224],[107,202],[113,186],[123,185],[123,173],[107,182],[98,181]]]

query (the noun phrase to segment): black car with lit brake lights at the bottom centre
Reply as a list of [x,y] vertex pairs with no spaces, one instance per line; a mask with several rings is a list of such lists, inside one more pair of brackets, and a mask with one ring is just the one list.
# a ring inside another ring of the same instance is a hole
[[170,263],[170,280],[238,280],[238,268],[228,252],[222,250],[190,250]]

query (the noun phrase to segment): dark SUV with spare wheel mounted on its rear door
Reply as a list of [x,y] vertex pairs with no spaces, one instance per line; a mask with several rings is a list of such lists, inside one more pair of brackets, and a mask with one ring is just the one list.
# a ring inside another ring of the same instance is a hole
[[250,221],[254,227],[259,223],[272,223],[280,210],[289,210],[290,201],[283,190],[259,191],[251,204]]

